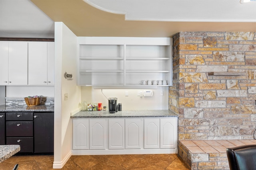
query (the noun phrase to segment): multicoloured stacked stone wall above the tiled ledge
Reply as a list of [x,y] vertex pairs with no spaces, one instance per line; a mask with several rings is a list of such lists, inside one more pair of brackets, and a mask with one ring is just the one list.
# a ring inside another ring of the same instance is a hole
[[255,102],[255,32],[180,32],[173,37],[169,109],[179,114],[178,140],[253,139]]

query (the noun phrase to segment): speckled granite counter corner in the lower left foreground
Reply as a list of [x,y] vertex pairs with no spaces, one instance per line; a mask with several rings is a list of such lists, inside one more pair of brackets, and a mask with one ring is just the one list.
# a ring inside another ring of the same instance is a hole
[[0,145],[0,162],[20,151],[20,145]]

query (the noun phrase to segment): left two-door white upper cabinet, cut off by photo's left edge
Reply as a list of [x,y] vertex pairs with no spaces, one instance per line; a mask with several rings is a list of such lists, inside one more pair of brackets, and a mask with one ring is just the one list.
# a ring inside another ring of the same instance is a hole
[[0,46],[0,84],[28,84],[28,42],[2,41]]

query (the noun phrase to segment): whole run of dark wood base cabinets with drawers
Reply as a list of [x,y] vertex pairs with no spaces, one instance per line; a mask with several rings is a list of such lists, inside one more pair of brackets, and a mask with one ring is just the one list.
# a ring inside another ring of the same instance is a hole
[[54,113],[6,112],[5,117],[4,123],[0,119],[0,129],[5,128],[0,145],[6,140],[6,145],[20,145],[19,153],[53,153]]

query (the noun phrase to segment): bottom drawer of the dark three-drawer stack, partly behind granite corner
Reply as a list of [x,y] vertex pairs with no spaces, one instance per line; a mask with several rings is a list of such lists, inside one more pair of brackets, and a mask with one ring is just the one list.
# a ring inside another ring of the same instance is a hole
[[20,152],[33,152],[33,137],[7,137],[6,145],[20,145]]

